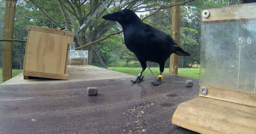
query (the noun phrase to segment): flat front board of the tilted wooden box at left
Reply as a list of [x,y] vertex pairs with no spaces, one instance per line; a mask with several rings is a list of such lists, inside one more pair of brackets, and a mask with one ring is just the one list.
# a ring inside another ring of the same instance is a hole
[[28,43],[25,74],[27,71],[65,74],[67,50],[73,37],[30,30]]

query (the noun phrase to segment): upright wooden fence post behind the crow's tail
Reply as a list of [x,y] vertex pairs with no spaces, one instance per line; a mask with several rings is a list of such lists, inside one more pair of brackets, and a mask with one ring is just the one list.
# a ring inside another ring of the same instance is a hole
[[[180,0],[172,0],[172,4],[180,2]],[[172,7],[172,38],[177,42],[179,45],[180,39],[180,6],[177,5]],[[179,66],[179,56],[172,54],[170,56],[170,74],[178,74],[178,66]]]

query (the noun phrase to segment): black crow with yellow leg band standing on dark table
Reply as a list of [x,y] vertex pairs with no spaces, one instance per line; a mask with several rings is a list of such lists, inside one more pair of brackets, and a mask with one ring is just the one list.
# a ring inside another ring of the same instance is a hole
[[179,56],[189,56],[190,54],[183,51],[175,42],[174,39],[165,32],[151,25],[143,23],[141,19],[130,9],[123,9],[119,12],[114,12],[102,16],[109,21],[117,21],[122,25],[124,42],[126,47],[132,51],[140,61],[142,71],[137,76],[135,81],[131,83],[140,83],[144,76],[142,73],[147,68],[147,61],[156,62],[160,66],[160,75],[156,82],[151,85],[160,85],[163,80],[163,70],[165,60],[172,53]]

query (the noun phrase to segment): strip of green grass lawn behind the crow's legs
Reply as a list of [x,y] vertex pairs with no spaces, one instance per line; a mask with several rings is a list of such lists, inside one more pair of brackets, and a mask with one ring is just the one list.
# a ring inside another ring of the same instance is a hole
[[[108,67],[108,69],[117,71],[117,72],[122,72],[130,75],[137,76],[141,72],[141,67]],[[152,72],[155,75],[158,75],[159,72],[159,67],[152,67],[150,68]],[[169,68],[165,68],[163,74],[169,74]],[[149,69],[146,69],[143,72],[144,76],[150,76],[151,73],[149,72]],[[195,78],[199,79],[199,68],[179,68],[178,69],[178,75],[179,76],[185,76],[185,77],[190,77],[190,78]]]

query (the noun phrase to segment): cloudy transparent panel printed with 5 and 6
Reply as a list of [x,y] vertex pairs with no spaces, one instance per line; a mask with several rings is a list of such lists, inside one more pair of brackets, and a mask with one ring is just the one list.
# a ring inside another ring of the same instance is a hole
[[201,29],[200,85],[255,93],[256,19],[202,23]]

